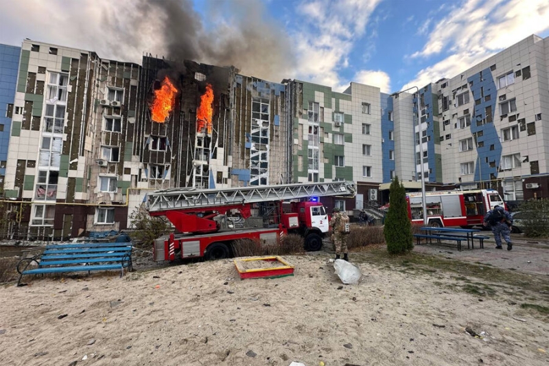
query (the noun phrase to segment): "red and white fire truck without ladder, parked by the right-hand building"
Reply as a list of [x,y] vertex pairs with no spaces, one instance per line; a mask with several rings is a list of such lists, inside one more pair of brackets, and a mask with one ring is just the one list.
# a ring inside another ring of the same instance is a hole
[[[421,192],[406,195],[408,217],[412,223],[423,224]],[[506,207],[496,190],[425,192],[428,225],[432,227],[482,225],[484,215],[495,205]]]

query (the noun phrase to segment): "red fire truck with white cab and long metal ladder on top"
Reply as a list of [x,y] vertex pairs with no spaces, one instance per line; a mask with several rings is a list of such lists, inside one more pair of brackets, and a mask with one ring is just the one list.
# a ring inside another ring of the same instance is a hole
[[227,258],[237,240],[272,245],[288,233],[303,236],[307,251],[318,251],[329,216],[315,198],[355,193],[348,181],[155,191],[148,194],[150,216],[165,216],[179,233],[155,240],[154,260]]

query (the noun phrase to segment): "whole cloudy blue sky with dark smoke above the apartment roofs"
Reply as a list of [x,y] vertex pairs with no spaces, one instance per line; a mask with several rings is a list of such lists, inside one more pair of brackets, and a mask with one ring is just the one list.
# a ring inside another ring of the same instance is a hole
[[193,19],[197,61],[337,91],[351,81],[422,87],[549,36],[547,0],[19,0],[2,5],[0,43],[31,38],[140,63],[143,52],[170,54],[169,39],[191,27],[166,20],[178,14],[169,4]]

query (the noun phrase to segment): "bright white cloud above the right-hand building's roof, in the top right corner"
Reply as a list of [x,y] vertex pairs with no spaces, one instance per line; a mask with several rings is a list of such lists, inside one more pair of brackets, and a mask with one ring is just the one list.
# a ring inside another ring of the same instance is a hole
[[428,42],[412,58],[447,56],[419,71],[406,85],[422,87],[453,78],[530,34],[549,30],[547,0],[467,0],[436,24]]

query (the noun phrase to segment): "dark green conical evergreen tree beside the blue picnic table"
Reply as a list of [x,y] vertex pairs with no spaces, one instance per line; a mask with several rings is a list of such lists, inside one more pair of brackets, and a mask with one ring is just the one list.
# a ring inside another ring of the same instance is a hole
[[389,190],[389,210],[385,218],[383,235],[387,243],[387,251],[391,254],[402,254],[414,248],[412,224],[408,218],[406,191],[395,176]]

